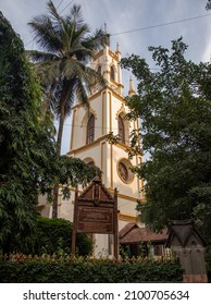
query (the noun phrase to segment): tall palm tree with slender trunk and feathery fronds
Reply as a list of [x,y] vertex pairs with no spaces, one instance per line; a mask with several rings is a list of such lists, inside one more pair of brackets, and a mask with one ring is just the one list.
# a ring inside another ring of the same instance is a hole
[[[35,41],[40,51],[27,51],[37,66],[48,97],[48,109],[59,120],[57,136],[58,154],[61,154],[62,134],[65,119],[77,98],[88,106],[88,94],[96,84],[103,84],[102,76],[87,66],[87,63],[108,44],[108,34],[96,29],[90,35],[89,26],[82,16],[80,5],[74,4],[67,15],[61,16],[53,2],[47,2],[48,14],[34,17],[28,25],[35,33]],[[54,187],[53,212],[58,215],[58,191]]]

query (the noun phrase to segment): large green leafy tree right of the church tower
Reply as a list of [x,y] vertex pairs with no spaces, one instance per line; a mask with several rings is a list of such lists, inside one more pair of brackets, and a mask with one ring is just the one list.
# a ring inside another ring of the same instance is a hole
[[[158,69],[131,56],[122,64],[137,77],[137,95],[127,99],[129,118],[139,118],[139,135],[149,158],[134,172],[145,180],[141,220],[160,230],[170,220],[193,219],[211,237],[211,64],[185,59],[187,45],[150,47]],[[136,141],[133,142],[136,146]]]

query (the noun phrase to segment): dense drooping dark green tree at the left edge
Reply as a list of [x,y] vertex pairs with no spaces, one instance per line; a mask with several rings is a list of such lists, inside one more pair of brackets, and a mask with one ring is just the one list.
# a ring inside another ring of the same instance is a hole
[[0,53],[0,248],[9,252],[12,240],[29,243],[40,193],[52,196],[54,183],[87,183],[95,170],[58,156],[52,122],[41,111],[41,86],[2,13]]

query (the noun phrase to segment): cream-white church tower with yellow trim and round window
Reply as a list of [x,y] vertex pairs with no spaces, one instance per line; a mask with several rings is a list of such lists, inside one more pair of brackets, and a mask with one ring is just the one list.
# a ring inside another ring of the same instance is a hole
[[[138,129],[138,120],[124,119],[128,109],[123,97],[122,70],[119,64],[121,51],[107,46],[98,52],[91,68],[103,75],[105,86],[95,88],[89,97],[90,108],[76,105],[72,111],[72,131],[69,156],[94,163],[102,171],[102,183],[111,193],[117,190],[119,231],[128,222],[138,222],[137,199],[141,199],[141,181],[129,170],[141,162],[141,156],[128,159],[129,133]],[[128,95],[135,94],[132,80]],[[117,144],[107,141],[109,133],[119,135]],[[59,217],[73,221],[74,193],[70,202],[61,200]],[[112,236],[95,234],[96,255],[112,255]]]

